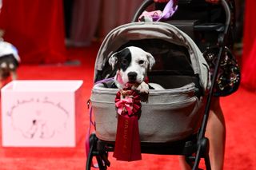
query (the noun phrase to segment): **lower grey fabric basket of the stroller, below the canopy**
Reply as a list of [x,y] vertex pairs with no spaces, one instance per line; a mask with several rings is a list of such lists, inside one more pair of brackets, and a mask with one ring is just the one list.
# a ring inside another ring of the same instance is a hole
[[[114,141],[117,131],[114,98],[118,89],[101,86],[94,87],[91,97],[96,136],[101,140]],[[177,89],[151,90],[149,102],[142,104],[140,140],[162,143],[198,132],[202,121],[202,99],[194,95],[195,90],[194,84]]]

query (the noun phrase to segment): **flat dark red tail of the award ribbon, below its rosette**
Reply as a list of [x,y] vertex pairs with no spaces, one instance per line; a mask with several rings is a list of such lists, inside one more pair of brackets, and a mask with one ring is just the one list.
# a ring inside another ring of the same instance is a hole
[[114,157],[117,160],[142,160],[138,132],[138,117],[118,115],[118,130],[115,140]]

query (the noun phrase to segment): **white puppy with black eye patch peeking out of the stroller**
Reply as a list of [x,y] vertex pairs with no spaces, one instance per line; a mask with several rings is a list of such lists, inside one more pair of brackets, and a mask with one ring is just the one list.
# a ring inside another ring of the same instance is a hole
[[149,93],[149,85],[146,84],[147,71],[152,69],[154,57],[135,46],[129,46],[112,54],[109,58],[112,69],[117,69],[114,77],[115,84],[122,89],[126,83],[132,84],[133,89],[140,93]]

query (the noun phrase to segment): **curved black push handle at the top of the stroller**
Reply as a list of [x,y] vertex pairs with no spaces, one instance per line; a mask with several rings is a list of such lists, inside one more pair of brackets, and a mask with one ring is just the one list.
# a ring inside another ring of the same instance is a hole
[[[190,3],[190,1],[191,0],[179,0],[179,3],[183,3],[183,4]],[[132,19],[132,22],[137,22],[139,16],[143,13],[143,11],[146,10],[146,8],[152,4],[154,4],[154,0],[145,0],[144,2],[142,2],[142,5],[139,6],[138,10],[134,14],[134,18]],[[226,14],[226,23],[225,23],[226,26],[224,30],[224,34],[226,34],[230,26],[230,18],[231,18],[230,6],[226,2],[226,0],[220,0],[220,4],[222,8],[225,10],[225,14]]]

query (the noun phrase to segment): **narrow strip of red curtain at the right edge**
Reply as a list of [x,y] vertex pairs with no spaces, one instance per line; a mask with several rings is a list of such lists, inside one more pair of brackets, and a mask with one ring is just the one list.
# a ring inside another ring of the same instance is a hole
[[256,90],[256,1],[246,0],[242,54],[242,85]]

